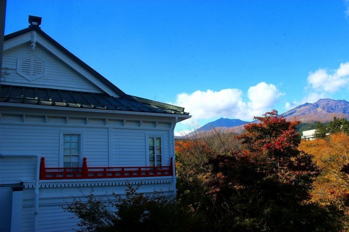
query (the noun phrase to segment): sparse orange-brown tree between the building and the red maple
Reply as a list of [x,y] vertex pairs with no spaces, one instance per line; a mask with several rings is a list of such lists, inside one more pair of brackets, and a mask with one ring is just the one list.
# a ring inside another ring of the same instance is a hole
[[198,222],[197,230],[208,229],[202,215],[207,210],[208,202],[212,202],[208,194],[209,183],[215,178],[208,161],[217,155],[228,155],[231,150],[238,150],[240,142],[234,139],[236,134],[214,128],[209,131],[196,130],[175,142],[177,203],[182,210],[192,213],[192,219]]

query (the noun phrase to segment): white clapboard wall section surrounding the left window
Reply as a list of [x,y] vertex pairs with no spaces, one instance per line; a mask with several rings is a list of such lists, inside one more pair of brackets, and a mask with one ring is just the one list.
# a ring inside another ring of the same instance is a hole
[[62,159],[59,154],[61,133],[81,133],[81,161],[86,156],[89,167],[109,165],[107,128],[0,124],[0,131],[1,152],[39,154],[45,157],[46,167],[59,167],[59,160]]

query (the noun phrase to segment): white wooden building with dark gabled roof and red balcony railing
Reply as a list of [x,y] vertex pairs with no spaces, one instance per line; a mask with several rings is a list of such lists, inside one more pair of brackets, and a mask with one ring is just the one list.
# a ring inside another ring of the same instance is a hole
[[72,231],[74,196],[176,192],[184,108],[128,95],[40,29],[5,36],[0,82],[0,231]]

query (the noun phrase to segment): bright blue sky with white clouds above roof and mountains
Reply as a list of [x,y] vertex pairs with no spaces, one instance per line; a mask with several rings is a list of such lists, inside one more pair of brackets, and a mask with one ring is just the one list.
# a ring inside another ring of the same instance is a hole
[[[122,91],[185,107],[176,134],[320,98],[349,101],[349,1],[7,0]],[[189,125],[188,125],[189,124]]]

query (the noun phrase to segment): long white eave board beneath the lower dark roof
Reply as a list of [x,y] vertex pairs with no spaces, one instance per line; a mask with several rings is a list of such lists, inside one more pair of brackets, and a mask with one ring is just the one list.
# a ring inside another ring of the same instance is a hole
[[[191,115],[178,115],[178,114],[160,114],[160,113],[144,113],[144,112],[131,112],[131,111],[121,111],[121,110],[100,110],[100,109],[85,109],[85,108],[68,108],[68,107],[58,107],[58,106],[38,106],[38,105],[26,105],[26,104],[18,104],[18,103],[3,103],[0,102],[0,107],[15,107],[17,109],[41,109],[45,110],[43,112],[47,112],[47,110],[53,110],[53,111],[66,111],[68,114],[78,113],[81,117],[81,113],[92,113],[92,114],[101,114],[99,118],[104,118],[103,114],[109,114],[111,117],[112,115],[129,115],[129,116],[136,116],[136,117],[167,117],[167,118],[178,118],[178,122],[183,121],[187,118],[191,118]],[[1,112],[0,108],[0,113]],[[43,113],[43,115],[46,115],[47,113]],[[37,115],[37,114],[36,114]],[[97,118],[97,117],[96,117]],[[172,120],[171,120],[172,121]]]

